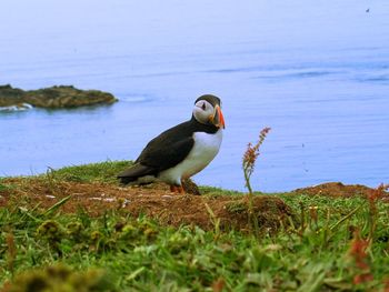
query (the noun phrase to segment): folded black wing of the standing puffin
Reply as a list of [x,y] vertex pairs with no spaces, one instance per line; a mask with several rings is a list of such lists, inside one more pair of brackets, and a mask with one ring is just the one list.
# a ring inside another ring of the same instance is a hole
[[158,171],[170,169],[189,154],[194,144],[189,122],[178,124],[152,139],[137,159],[137,163]]

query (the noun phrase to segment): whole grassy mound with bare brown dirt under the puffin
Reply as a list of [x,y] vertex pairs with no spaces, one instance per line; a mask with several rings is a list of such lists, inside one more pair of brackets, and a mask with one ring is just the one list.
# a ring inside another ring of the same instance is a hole
[[[44,291],[52,283],[66,291],[383,291],[389,286],[389,208],[380,200],[381,190],[348,198],[320,192],[256,194],[261,229],[255,234],[235,222],[248,221],[245,194],[208,187],[200,188],[201,197],[173,195],[161,184],[122,188],[114,174],[129,163],[0,179],[0,286],[4,291]],[[190,220],[197,214],[203,224]],[[83,290],[77,290],[80,281],[86,283]]]

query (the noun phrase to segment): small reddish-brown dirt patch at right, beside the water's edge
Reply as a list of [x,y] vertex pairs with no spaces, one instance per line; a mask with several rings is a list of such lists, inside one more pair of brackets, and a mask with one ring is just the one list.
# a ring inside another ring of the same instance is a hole
[[[292,193],[307,194],[307,195],[328,195],[328,197],[340,197],[340,198],[350,198],[350,197],[363,197],[368,198],[369,195],[377,192],[377,189],[371,189],[361,184],[342,184],[341,182],[328,182],[313,187],[308,187],[303,189],[297,189]],[[389,193],[382,190],[382,200],[389,201]]]

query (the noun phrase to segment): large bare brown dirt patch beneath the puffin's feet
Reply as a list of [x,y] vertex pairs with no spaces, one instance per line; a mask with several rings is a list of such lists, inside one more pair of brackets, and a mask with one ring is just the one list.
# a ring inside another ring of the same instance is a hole
[[[34,205],[50,209],[64,198],[61,212],[77,212],[80,208],[91,215],[107,210],[126,210],[133,217],[146,214],[163,224],[179,226],[194,224],[205,230],[219,225],[222,230],[249,230],[248,202],[241,195],[173,194],[166,184],[121,188],[109,183],[80,183],[47,179],[7,179],[0,189],[0,207]],[[253,200],[255,212],[262,229],[277,230],[292,210],[280,199],[261,195]]]

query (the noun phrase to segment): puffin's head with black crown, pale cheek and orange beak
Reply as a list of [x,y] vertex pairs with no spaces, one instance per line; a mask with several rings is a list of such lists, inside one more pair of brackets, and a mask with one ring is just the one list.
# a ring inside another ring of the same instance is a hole
[[194,101],[193,117],[200,123],[213,124],[219,129],[226,128],[218,97],[206,94],[198,98]]

